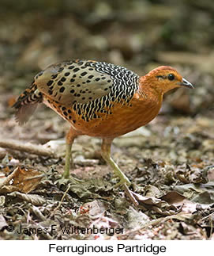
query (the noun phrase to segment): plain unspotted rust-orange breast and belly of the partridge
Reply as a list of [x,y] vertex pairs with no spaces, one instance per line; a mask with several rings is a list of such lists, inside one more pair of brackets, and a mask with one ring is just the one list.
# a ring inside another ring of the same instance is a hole
[[77,118],[75,128],[88,136],[117,137],[148,124],[160,111],[161,102],[138,101],[133,98],[127,105],[115,103],[108,113],[96,113],[92,120]]

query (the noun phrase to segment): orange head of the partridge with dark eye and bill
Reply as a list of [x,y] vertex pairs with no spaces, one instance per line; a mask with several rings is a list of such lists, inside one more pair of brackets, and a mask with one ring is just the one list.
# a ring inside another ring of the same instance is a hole
[[141,85],[148,84],[152,89],[160,94],[165,94],[168,90],[186,87],[193,89],[193,85],[169,66],[156,67],[144,77],[141,77]]

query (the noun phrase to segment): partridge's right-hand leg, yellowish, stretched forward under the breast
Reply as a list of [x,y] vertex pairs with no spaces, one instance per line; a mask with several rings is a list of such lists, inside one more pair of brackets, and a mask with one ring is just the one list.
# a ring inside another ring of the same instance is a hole
[[101,155],[103,159],[111,166],[111,168],[114,170],[114,173],[118,178],[120,179],[118,185],[131,185],[131,182],[126,177],[125,174],[123,174],[122,170],[119,169],[118,165],[114,162],[114,160],[111,158],[111,143],[113,139],[103,139],[102,144],[102,152]]

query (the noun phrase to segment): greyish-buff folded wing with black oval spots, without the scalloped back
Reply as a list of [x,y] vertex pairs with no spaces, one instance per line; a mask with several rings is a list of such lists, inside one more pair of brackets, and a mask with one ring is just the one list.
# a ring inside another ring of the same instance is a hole
[[35,77],[38,89],[63,105],[87,103],[109,94],[113,81],[110,75],[96,71],[89,62],[66,62],[51,65]]

